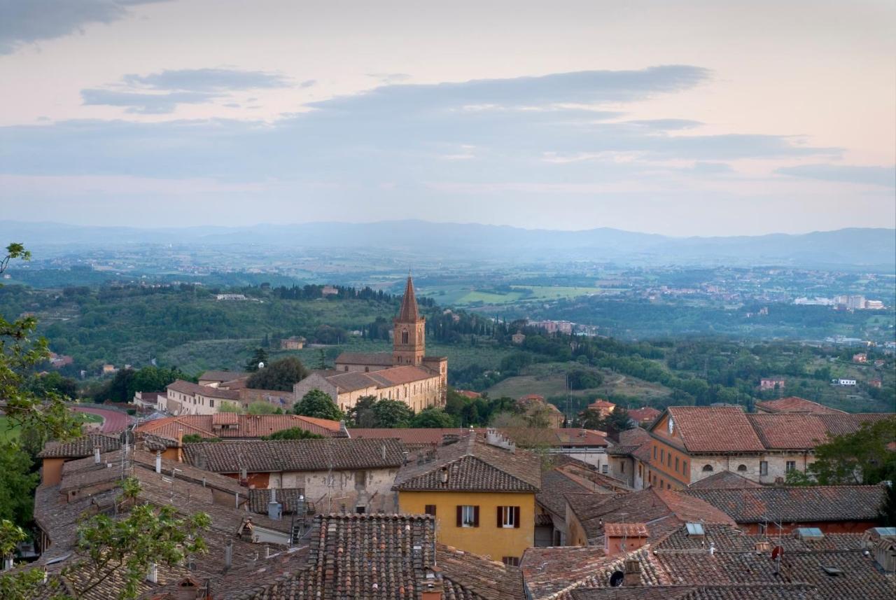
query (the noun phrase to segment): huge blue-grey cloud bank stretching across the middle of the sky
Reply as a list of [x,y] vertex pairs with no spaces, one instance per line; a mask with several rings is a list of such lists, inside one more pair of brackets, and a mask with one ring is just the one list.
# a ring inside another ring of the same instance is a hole
[[[699,67],[674,66],[386,85],[314,102],[312,110],[274,123],[78,120],[0,127],[0,172],[228,181],[314,178],[351,182],[359,189],[383,181],[405,190],[439,181],[471,186],[513,182],[543,188],[558,178],[573,185],[616,186],[656,173],[662,164],[676,160],[723,163],[839,155],[840,149],[813,147],[797,137],[680,133],[694,122],[626,122],[619,120],[618,110],[592,109],[605,101],[618,109],[625,101],[689,90],[707,77]],[[210,101],[224,93],[84,91],[85,103],[141,113],[170,112],[179,103]],[[90,153],[83,151],[85,147]],[[473,147],[475,152],[468,151]],[[696,181],[718,175],[723,168],[701,166],[690,174],[678,172],[675,184],[681,185],[681,177]],[[660,170],[671,174],[668,168]]]

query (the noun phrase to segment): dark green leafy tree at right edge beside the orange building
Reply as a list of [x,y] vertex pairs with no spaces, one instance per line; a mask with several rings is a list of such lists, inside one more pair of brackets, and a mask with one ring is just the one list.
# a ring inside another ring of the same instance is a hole
[[863,423],[856,432],[834,435],[815,447],[806,475],[788,473],[788,483],[821,485],[879,484],[896,481],[896,416]]

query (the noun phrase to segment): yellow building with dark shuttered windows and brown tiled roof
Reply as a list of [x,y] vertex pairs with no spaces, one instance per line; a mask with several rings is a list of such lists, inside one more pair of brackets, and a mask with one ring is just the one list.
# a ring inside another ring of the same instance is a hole
[[435,516],[436,538],[494,561],[519,564],[535,544],[538,457],[489,430],[429,450],[401,468],[393,490],[401,513]]

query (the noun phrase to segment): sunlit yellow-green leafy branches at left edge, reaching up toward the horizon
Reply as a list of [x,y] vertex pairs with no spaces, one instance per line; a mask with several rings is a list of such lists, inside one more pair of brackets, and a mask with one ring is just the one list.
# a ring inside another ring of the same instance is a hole
[[[13,259],[30,260],[31,253],[22,244],[9,244],[0,259],[0,273]],[[4,415],[13,424],[30,424],[57,440],[81,434],[81,424],[65,406],[56,391],[38,396],[25,385],[34,367],[47,361],[47,340],[35,338],[38,321],[31,316],[6,321],[0,316],[0,398],[5,400]]]

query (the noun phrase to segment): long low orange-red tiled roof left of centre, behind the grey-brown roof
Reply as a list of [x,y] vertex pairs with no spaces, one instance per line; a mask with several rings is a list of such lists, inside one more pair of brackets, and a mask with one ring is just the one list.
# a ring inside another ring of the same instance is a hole
[[[237,427],[224,428],[221,419],[236,416]],[[215,426],[215,417],[219,417]],[[137,425],[134,431],[153,433],[172,440],[177,440],[177,432],[184,431],[203,438],[259,438],[284,429],[298,427],[310,433],[329,436],[339,431],[339,422],[299,415],[237,415],[236,413],[216,413],[215,415],[168,416]]]

